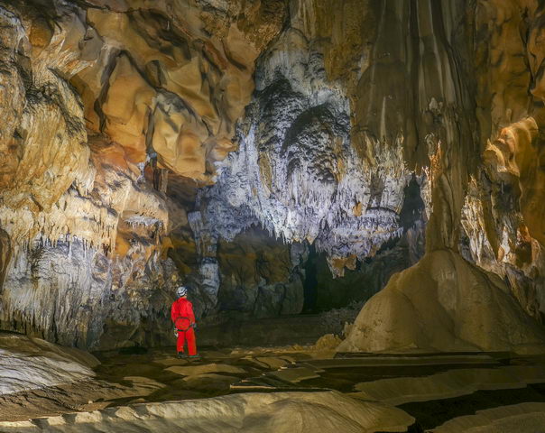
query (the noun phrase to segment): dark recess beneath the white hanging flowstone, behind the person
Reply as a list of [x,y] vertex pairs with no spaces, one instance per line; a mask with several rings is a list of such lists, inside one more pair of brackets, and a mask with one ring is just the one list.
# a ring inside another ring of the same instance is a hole
[[[171,182],[170,188],[173,185]],[[191,271],[200,269],[201,262],[190,231],[177,231],[169,257],[180,272],[180,280],[192,287],[199,317],[207,321],[357,312],[383,289],[393,273],[420,258],[424,209],[420,181],[413,175],[404,189],[399,216],[403,235],[385,242],[373,257],[357,260],[354,270],[346,269],[344,276],[337,278],[331,273],[327,254],[319,253],[315,244],[284,244],[262,226],[249,227],[233,241],[218,241],[213,260],[217,263],[217,279],[213,281],[204,281],[199,272]],[[209,283],[217,286],[208,287]],[[216,295],[212,293],[217,301],[208,299],[210,290],[217,290]]]

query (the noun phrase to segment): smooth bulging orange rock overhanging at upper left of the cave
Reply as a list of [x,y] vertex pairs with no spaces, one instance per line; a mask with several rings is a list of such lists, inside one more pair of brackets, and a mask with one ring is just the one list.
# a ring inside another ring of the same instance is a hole
[[[144,161],[151,144],[163,167],[207,180],[213,162],[235,149],[226,143],[254,90],[254,60],[280,30],[278,5],[273,21],[238,2],[226,16],[145,2],[88,9],[104,40],[97,63],[73,78],[88,126],[130,149],[132,161]],[[235,18],[246,13],[254,25],[241,31]]]

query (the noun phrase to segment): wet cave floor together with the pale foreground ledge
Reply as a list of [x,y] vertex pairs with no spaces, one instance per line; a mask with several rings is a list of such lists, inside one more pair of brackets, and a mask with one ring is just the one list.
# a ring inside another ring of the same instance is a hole
[[[97,353],[95,378],[4,394],[0,428],[284,431],[289,425],[303,432],[319,419],[325,431],[503,431],[494,428],[518,419],[516,431],[531,432],[545,403],[540,356],[334,355],[307,345],[207,347],[199,361],[189,361],[173,351]],[[294,417],[296,407],[305,409]]]

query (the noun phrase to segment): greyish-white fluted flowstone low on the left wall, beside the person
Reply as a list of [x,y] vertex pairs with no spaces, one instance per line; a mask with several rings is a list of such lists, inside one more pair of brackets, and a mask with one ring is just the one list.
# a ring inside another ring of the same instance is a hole
[[174,272],[168,261],[112,262],[79,240],[29,245],[6,274],[0,323],[63,345],[155,345],[170,336]]

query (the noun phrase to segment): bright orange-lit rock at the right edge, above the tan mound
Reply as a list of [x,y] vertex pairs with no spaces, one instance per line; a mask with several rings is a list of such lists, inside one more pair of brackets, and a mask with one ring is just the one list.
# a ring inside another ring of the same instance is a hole
[[462,208],[462,248],[468,260],[509,281],[522,307],[542,322],[542,219],[533,217],[543,213],[540,152],[533,117],[506,126],[487,144]]

